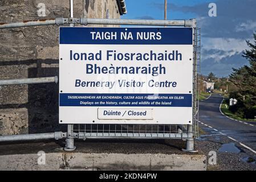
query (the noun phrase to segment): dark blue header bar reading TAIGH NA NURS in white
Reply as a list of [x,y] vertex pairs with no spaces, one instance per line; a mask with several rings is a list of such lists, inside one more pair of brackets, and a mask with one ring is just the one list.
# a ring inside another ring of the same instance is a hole
[[192,45],[192,28],[60,27],[60,44]]

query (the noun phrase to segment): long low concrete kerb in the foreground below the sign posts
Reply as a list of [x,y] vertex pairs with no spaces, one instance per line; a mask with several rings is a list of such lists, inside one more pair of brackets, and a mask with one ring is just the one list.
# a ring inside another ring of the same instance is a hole
[[37,154],[2,155],[0,170],[206,170],[205,155],[59,152],[45,159],[38,164]]

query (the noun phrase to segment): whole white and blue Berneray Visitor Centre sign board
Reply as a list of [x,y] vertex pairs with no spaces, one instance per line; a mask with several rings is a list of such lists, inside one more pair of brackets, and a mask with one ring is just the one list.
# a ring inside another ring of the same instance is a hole
[[60,27],[59,122],[192,124],[192,35]]

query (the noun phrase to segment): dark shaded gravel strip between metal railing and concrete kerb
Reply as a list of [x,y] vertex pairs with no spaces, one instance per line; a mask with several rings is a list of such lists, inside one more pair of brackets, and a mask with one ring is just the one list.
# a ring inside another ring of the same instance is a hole
[[[36,154],[38,151],[59,152],[65,146],[64,140],[43,142],[1,143],[0,155]],[[122,153],[122,154],[184,154],[182,140],[128,139],[128,140],[75,140],[75,152]],[[191,154],[193,155],[193,154]]]

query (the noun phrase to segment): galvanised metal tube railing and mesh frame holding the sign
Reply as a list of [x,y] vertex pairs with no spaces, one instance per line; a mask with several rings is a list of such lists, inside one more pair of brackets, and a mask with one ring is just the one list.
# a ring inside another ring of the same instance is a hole
[[[133,20],[133,19],[90,19],[90,18],[56,18],[50,20],[34,20],[18,23],[0,23],[2,28],[16,28],[27,26],[43,26],[48,24],[64,24],[70,26],[79,23],[87,24],[115,24],[115,25],[140,25],[140,26],[182,26],[193,28],[193,122],[192,125],[68,125],[67,133],[43,133],[26,135],[6,135],[0,136],[0,142],[35,140],[35,139],[61,139],[66,138],[65,150],[75,150],[74,138],[94,139],[94,138],[133,138],[133,139],[185,139],[187,152],[194,150],[194,138],[198,137],[198,98],[197,93],[200,88],[200,29],[196,28],[196,19],[189,20]],[[198,63],[199,62],[199,63]],[[39,84],[47,82],[58,82],[58,77],[46,78],[23,78],[17,80],[0,80],[0,85],[19,84]],[[88,128],[89,127],[89,128]]]

